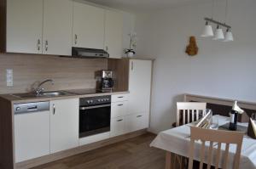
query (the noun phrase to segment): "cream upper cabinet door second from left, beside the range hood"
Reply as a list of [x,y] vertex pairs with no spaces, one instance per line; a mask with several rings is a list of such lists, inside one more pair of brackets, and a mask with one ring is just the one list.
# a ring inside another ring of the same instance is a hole
[[43,54],[72,54],[72,0],[44,0]]

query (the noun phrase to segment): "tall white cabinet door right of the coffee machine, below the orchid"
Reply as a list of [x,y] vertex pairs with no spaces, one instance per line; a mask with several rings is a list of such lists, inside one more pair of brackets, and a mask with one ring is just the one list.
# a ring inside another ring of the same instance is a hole
[[150,60],[130,60],[128,113],[149,112],[151,90]]

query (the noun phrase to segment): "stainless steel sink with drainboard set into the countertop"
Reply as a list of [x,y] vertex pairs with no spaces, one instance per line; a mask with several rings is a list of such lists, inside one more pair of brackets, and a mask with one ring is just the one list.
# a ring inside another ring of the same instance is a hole
[[44,92],[40,94],[36,93],[17,93],[12,94],[19,98],[51,98],[51,97],[58,97],[58,96],[67,96],[72,95],[73,93],[68,93],[66,91],[52,91],[52,92]]

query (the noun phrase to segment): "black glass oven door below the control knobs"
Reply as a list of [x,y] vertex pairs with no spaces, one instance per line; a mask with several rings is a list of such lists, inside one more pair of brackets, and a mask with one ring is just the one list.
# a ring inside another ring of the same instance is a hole
[[110,131],[111,104],[80,106],[79,138]]

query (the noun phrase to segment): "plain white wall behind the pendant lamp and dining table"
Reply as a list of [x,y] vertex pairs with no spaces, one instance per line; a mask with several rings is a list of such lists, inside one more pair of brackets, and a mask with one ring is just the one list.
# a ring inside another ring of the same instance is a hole
[[[176,118],[183,93],[256,102],[256,1],[230,2],[227,23],[235,42],[217,42],[199,35],[212,4],[170,8],[138,14],[137,55],[156,58],[150,128],[160,132]],[[224,1],[218,1],[214,19],[224,21]],[[189,36],[196,36],[199,54],[184,53]]]

